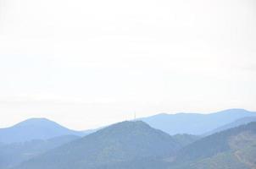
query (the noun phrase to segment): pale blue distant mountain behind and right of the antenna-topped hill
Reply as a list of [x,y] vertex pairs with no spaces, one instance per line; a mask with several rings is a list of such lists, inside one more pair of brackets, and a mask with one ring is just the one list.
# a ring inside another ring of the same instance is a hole
[[159,114],[153,117],[144,117],[140,120],[170,135],[201,135],[242,117],[256,117],[256,112],[248,112],[243,109],[229,109],[211,114]]

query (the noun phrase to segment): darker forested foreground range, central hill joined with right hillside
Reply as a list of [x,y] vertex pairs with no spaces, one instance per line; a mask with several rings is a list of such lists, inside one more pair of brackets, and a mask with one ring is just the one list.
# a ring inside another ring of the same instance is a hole
[[256,123],[183,146],[143,122],[117,123],[25,161],[14,169],[249,169],[256,167]]

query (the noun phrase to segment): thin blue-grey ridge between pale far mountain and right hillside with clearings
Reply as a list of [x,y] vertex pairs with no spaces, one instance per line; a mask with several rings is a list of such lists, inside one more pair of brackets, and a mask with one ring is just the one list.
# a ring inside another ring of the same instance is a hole
[[224,131],[229,128],[236,128],[237,126],[241,126],[243,124],[248,124],[248,123],[252,123],[252,122],[256,122],[256,117],[243,117],[243,118],[236,120],[235,122],[225,124],[224,126],[221,126],[220,128],[215,128],[213,131],[210,131],[203,135],[207,136],[207,135],[215,134],[215,133]]

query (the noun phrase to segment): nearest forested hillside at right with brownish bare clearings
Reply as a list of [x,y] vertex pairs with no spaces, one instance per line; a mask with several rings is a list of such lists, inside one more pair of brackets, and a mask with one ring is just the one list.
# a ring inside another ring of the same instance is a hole
[[174,169],[256,168],[256,123],[199,139],[167,160]]

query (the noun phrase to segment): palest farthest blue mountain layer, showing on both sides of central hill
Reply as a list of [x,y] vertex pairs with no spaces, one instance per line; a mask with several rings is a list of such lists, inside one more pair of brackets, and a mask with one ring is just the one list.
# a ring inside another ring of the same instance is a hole
[[[243,117],[248,118],[246,118],[247,120],[241,120]],[[142,120],[151,127],[160,129],[170,135],[201,135],[214,134],[215,132],[227,129],[228,127],[224,125],[235,123],[237,120],[240,120],[237,125],[253,122],[253,117],[256,117],[256,112],[248,112],[243,109],[229,109],[210,114],[158,114],[153,117],[143,117],[138,120]],[[236,127],[234,124],[231,124],[231,127],[232,126]],[[62,135],[85,136],[95,131],[97,131],[97,129],[75,131],[46,118],[31,118],[15,124],[10,128],[0,128],[0,143],[25,142],[33,139],[51,139]]]

